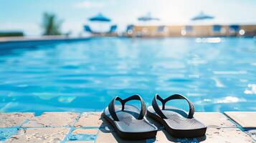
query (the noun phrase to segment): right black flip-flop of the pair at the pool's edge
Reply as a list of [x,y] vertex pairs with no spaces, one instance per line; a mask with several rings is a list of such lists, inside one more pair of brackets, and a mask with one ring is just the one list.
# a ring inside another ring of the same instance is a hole
[[[162,106],[158,106],[157,99]],[[166,106],[172,99],[185,99],[189,103],[189,114],[184,110]],[[148,107],[148,116],[163,124],[167,132],[173,137],[202,137],[207,131],[207,126],[194,119],[194,105],[186,97],[174,94],[162,99],[158,94],[153,98],[152,106]]]

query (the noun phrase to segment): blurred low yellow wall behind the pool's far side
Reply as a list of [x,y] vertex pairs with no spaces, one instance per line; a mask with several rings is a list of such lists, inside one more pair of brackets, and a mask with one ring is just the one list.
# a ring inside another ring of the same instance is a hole
[[[240,25],[240,29],[245,30],[245,35],[240,35],[239,31],[232,31],[229,25],[222,25],[221,31],[213,31],[212,25],[192,26],[192,31],[186,31],[186,26],[165,26],[165,30],[159,32],[158,26],[134,26],[133,34],[130,36],[255,36],[256,25]],[[181,32],[183,31],[183,32]]]

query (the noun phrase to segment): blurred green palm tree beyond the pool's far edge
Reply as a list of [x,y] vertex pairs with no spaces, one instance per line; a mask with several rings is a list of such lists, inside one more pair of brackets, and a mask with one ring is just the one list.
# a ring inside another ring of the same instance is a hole
[[55,14],[44,13],[42,21],[43,35],[61,35],[62,22],[62,20],[57,19]]

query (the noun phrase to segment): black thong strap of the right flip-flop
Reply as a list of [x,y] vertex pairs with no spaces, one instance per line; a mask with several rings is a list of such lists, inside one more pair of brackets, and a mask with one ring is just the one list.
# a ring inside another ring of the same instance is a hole
[[153,101],[152,101],[152,107],[155,110],[156,114],[158,114],[163,119],[167,119],[167,117],[163,114],[163,112],[159,108],[158,103],[156,102],[157,99],[162,102],[162,109],[165,109],[166,102],[169,102],[172,99],[185,99],[186,102],[189,103],[188,118],[191,119],[194,116],[194,105],[189,101],[189,99],[182,96],[181,94],[174,94],[174,95],[171,95],[170,97],[167,97],[166,99],[162,99],[158,94],[156,94],[156,96],[153,98]]

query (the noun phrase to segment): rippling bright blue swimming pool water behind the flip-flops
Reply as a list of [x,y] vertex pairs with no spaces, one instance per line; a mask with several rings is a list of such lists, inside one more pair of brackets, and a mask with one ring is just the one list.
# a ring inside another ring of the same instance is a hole
[[[94,38],[0,44],[0,112],[100,111],[119,95],[184,94],[196,111],[256,111],[256,42]],[[187,108],[185,102],[170,102]]]

